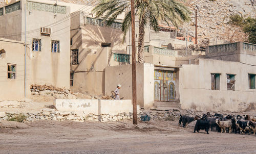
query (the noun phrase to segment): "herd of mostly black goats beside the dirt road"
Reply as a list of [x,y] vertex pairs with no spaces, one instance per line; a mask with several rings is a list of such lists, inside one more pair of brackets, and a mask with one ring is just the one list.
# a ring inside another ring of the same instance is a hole
[[207,134],[209,129],[212,131],[216,129],[218,132],[225,132],[228,130],[229,133],[241,133],[241,134],[250,134],[253,132],[255,135],[256,132],[256,119],[251,119],[249,115],[227,115],[225,118],[222,114],[216,113],[211,115],[209,112],[204,114],[202,118],[199,116],[189,117],[186,115],[180,115],[179,126],[182,122],[183,127],[187,127],[188,123],[197,120],[194,133],[199,132],[199,130],[205,130]]

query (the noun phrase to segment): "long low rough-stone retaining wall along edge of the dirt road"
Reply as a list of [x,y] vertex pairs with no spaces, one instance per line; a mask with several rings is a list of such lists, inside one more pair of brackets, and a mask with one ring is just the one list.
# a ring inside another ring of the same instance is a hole
[[[19,115],[20,113],[16,112],[0,112],[0,121],[8,120],[8,117],[11,115]],[[115,115],[111,114],[86,114],[84,112],[60,112],[54,109],[42,109],[38,112],[27,112],[23,113],[26,116],[27,122],[33,122],[36,120],[54,120],[54,121],[77,121],[77,122],[86,122],[86,121],[120,121],[124,119],[133,119],[132,112],[122,112]],[[164,120],[168,117],[178,118],[180,115],[179,110],[168,110],[168,111],[139,111],[138,119],[142,115],[148,115],[152,119]]]

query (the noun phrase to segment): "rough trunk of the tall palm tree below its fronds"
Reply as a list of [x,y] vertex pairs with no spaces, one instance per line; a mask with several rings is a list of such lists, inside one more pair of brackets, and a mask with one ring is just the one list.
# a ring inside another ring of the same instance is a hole
[[144,36],[145,36],[145,31],[144,31],[144,19],[145,16],[140,20],[139,24],[139,41],[138,41],[138,61],[139,63],[144,63]]

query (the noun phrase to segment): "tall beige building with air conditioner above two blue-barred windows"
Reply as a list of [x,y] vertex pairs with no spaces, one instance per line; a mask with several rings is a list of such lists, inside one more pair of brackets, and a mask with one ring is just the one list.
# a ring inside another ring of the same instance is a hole
[[30,84],[69,89],[70,7],[54,3],[22,0],[0,8],[0,37],[25,42],[26,25]]

